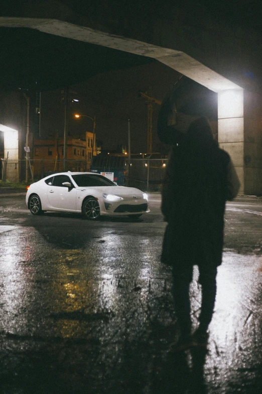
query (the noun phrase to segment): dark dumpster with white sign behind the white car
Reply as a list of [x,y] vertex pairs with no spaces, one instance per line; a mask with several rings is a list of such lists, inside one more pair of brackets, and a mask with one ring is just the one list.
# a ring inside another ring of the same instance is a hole
[[93,156],[90,171],[103,175],[118,186],[125,185],[126,163],[123,156]]

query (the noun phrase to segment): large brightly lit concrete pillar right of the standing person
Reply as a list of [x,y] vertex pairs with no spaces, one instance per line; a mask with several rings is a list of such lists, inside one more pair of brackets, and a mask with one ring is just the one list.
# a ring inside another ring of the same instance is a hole
[[218,92],[218,142],[234,163],[240,194],[262,194],[262,97],[242,89]]

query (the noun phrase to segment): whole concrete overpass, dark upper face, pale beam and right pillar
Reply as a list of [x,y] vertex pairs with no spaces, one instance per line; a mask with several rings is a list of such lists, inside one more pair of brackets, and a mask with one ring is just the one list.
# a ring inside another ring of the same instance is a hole
[[[218,139],[236,166],[240,193],[261,194],[262,43],[256,2],[235,0],[229,6],[220,0],[212,8],[204,0],[153,3],[29,0],[15,8],[13,2],[0,27],[31,28],[152,57],[216,92]],[[249,20],[244,5],[253,7]]]

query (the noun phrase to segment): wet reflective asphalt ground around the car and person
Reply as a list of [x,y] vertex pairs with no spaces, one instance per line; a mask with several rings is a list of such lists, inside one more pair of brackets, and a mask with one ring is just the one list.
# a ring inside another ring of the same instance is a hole
[[261,392],[261,200],[227,204],[207,354],[167,352],[179,331],[160,195],[150,208],[90,222],[0,198],[1,394]]

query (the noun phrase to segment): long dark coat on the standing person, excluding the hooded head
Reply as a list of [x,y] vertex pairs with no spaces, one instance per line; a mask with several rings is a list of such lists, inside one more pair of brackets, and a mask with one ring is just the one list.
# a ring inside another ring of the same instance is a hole
[[172,149],[162,192],[164,263],[221,264],[229,162],[215,142],[197,147],[185,138]]

